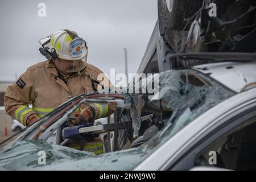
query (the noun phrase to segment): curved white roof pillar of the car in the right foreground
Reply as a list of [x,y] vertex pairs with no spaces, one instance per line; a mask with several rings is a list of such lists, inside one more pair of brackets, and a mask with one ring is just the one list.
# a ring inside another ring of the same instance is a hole
[[190,148],[204,137],[207,137],[210,131],[214,131],[229,119],[254,106],[256,106],[256,88],[222,101],[173,135],[134,170],[167,170],[170,167],[174,168],[174,164],[179,159],[184,158]]

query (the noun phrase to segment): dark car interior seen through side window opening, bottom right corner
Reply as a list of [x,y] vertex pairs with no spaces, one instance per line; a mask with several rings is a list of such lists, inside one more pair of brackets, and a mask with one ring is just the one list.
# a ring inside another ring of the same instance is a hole
[[[195,166],[212,166],[224,169],[256,170],[256,122],[218,140],[195,160]],[[210,151],[216,152],[216,164],[210,165]]]

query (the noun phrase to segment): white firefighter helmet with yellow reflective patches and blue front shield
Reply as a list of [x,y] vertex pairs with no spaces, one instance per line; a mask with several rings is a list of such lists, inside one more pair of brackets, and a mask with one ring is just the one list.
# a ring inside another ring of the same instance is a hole
[[57,57],[64,60],[83,60],[86,63],[88,47],[85,40],[80,38],[75,31],[59,30],[39,43],[49,52],[54,50]]

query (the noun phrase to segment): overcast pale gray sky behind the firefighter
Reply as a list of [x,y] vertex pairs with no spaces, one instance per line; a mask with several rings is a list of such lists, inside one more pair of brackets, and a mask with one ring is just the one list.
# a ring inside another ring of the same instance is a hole
[[[46,4],[46,17],[38,4]],[[0,0],[0,81],[14,81],[35,63],[46,60],[38,39],[68,28],[88,43],[88,63],[110,75],[125,72],[123,47],[128,50],[128,71],[137,72],[157,19],[156,0]]]

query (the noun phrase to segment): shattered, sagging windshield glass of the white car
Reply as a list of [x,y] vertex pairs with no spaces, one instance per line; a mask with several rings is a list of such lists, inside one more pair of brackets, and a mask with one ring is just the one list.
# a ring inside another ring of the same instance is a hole
[[[193,119],[234,94],[191,69],[160,73],[159,85],[155,86],[159,86],[159,93],[152,100],[147,99],[148,94],[133,96],[137,98],[131,109],[134,135],[138,135],[144,110],[158,114],[159,118],[167,113],[167,118],[156,119],[154,122],[163,127],[138,147],[94,155],[39,140],[23,140],[0,154],[0,170],[131,170]],[[142,113],[136,112],[138,108],[142,108]],[[38,152],[42,150],[47,154],[47,165],[40,166]]]

